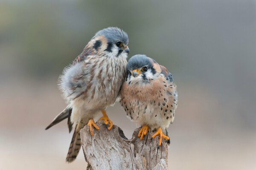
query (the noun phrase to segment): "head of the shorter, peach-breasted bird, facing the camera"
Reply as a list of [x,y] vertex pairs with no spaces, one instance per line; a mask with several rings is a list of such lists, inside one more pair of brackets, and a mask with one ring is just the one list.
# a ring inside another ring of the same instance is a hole
[[127,82],[129,84],[149,83],[156,77],[155,61],[145,55],[134,55],[127,63]]

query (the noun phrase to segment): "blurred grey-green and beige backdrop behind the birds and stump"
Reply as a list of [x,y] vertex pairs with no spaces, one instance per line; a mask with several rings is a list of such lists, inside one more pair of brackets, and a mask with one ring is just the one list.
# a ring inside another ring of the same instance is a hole
[[[125,30],[131,53],[174,75],[170,170],[256,168],[256,0],[0,0],[0,170],[85,169],[65,157],[62,69],[96,31]],[[131,138],[119,104],[109,117]]]

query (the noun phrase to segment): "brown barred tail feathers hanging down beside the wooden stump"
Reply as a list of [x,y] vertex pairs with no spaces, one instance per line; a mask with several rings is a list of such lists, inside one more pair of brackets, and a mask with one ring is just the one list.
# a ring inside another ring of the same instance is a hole
[[76,124],[76,128],[73,133],[73,137],[66,157],[66,161],[69,163],[74,161],[79,153],[79,150],[81,148],[81,137],[79,132],[84,126],[85,124],[82,121]]

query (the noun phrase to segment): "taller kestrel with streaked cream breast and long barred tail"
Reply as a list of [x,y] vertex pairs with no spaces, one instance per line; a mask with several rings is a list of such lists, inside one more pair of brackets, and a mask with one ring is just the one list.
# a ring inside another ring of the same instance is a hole
[[82,53],[64,68],[59,77],[67,107],[53,119],[46,130],[67,119],[69,132],[74,128],[66,161],[76,159],[81,148],[79,131],[85,125],[99,130],[94,123],[100,112],[104,124],[111,130],[113,122],[106,114],[106,108],[116,102],[122,82],[125,79],[128,48],[128,34],[120,28],[108,27],[98,31],[85,46]]

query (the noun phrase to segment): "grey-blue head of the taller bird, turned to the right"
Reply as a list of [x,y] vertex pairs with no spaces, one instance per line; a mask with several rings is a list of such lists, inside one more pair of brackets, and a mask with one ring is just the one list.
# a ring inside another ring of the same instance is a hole
[[128,35],[125,31],[117,27],[108,27],[98,31],[93,37],[95,40],[93,47],[102,49],[109,57],[127,57],[130,50],[128,48]]

